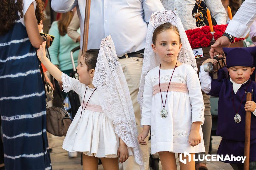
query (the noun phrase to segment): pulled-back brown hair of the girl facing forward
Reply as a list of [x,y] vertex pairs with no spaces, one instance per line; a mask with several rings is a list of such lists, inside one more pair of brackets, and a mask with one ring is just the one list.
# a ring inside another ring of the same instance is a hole
[[163,31],[166,31],[166,30],[173,30],[174,32],[176,32],[176,34],[179,36],[179,41],[181,43],[181,39],[180,39],[180,32],[178,30],[178,28],[174,25],[172,25],[171,23],[169,22],[166,22],[164,24],[161,24],[159,25],[155,31],[153,32],[153,36],[152,36],[152,42],[153,44],[155,44],[156,42],[156,39],[157,39],[157,35],[160,34],[161,32]]

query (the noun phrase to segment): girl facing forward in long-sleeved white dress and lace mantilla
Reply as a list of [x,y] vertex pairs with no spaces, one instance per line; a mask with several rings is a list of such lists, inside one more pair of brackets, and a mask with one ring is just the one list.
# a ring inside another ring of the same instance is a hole
[[204,152],[204,102],[194,54],[176,12],[153,13],[148,27],[138,96],[143,131],[138,140],[145,145],[151,127],[151,153],[159,154],[163,169],[177,169],[175,153],[183,158],[188,152],[192,161],[180,161],[180,169],[192,170],[194,153]]

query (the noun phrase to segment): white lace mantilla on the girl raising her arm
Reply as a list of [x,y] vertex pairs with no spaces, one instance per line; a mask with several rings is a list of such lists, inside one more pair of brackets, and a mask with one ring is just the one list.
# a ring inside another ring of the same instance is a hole
[[135,161],[141,169],[144,169],[137,140],[133,104],[111,36],[101,41],[93,85],[102,94],[101,107],[108,118],[113,121],[116,134],[128,147],[133,148]]

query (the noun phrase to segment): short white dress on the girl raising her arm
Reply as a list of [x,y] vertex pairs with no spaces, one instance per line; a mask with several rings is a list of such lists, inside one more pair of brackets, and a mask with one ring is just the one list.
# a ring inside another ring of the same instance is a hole
[[[82,106],[80,106],[69,126],[62,148],[69,152],[83,152],[85,155],[98,158],[118,157],[119,138],[115,134],[112,121],[102,111],[99,101],[101,94],[98,90],[89,88],[64,73],[62,73],[62,82],[65,93],[74,90],[82,98],[87,88],[82,114]],[[87,107],[84,109],[90,96]],[[129,155],[133,155],[129,147],[128,151]]]

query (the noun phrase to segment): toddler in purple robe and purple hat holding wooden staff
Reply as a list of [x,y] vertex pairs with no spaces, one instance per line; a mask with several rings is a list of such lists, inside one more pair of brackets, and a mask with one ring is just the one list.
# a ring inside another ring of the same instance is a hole
[[[256,47],[223,48],[223,50],[227,67],[218,70],[218,75],[222,79],[214,80],[208,72],[204,71],[204,64],[210,62],[217,64],[215,59],[205,60],[200,66],[199,73],[201,89],[206,94],[219,97],[216,134],[221,136],[222,140],[217,153],[224,155],[224,158],[229,155],[230,159],[224,159],[223,162],[230,163],[233,169],[243,169],[243,159],[239,161],[234,157],[244,157],[245,112],[250,110],[253,114],[251,116],[250,170],[256,170],[256,83],[253,60],[256,56]],[[247,92],[253,90],[252,101],[246,102],[245,90]]]

